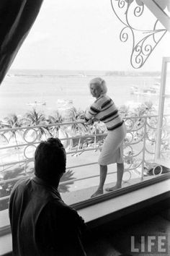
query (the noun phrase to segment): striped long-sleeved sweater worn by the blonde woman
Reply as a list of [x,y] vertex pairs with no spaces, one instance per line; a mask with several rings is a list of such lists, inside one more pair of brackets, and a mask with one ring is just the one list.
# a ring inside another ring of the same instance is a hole
[[120,127],[123,123],[120,115],[118,114],[115,103],[107,95],[102,95],[86,111],[86,121],[95,117],[103,121],[109,131]]

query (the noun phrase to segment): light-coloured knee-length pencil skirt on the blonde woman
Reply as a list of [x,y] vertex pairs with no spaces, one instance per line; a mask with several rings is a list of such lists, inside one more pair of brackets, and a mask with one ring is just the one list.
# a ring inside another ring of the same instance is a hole
[[104,140],[102,152],[99,155],[99,165],[107,166],[111,163],[123,163],[123,140],[125,139],[125,136],[125,123],[113,131],[108,131],[107,137]]

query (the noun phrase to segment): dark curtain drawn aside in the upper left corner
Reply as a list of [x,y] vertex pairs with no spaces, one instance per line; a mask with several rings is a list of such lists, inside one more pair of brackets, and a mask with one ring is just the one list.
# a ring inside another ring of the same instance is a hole
[[43,0],[0,0],[0,84],[32,27]]

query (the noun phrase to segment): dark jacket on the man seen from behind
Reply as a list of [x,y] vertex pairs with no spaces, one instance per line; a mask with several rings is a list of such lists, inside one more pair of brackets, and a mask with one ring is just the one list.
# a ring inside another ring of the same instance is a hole
[[58,190],[37,177],[18,182],[9,200],[13,255],[81,256],[85,224]]

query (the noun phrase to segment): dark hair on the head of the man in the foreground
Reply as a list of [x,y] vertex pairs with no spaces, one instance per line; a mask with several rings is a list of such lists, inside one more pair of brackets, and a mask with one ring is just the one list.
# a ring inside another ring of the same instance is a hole
[[35,150],[35,176],[55,184],[56,178],[66,171],[66,151],[61,140],[49,138]]

